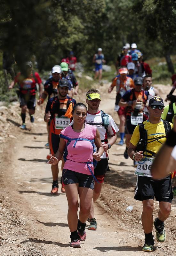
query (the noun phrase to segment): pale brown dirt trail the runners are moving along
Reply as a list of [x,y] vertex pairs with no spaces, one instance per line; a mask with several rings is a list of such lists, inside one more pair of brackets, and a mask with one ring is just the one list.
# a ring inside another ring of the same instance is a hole
[[[113,110],[116,92],[108,94],[106,90],[107,85],[101,87],[100,108],[111,114],[118,123]],[[80,249],[75,249],[69,247],[66,196],[60,190],[57,196],[50,194],[52,175],[51,166],[45,160],[48,153],[44,147],[47,141],[45,123],[38,118],[31,131],[24,132],[14,126],[13,134],[18,140],[9,138],[3,155],[7,156],[9,164],[2,174],[3,186],[6,188],[2,202],[4,205],[0,208],[0,255],[145,254],[141,252],[144,238],[140,219],[141,203],[133,199],[136,177],[133,175],[131,159],[125,160],[123,157],[125,146],[114,145],[110,150],[109,166],[112,171],[107,174],[95,209],[98,229],[87,230],[86,241],[81,243]],[[4,171],[4,168],[1,170]],[[175,203],[171,217],[166,221],[167,240],[164,244],[156,242],[154,255],[176,255],[175,229],[172,229],[172,223],[176,224]],[[132,212],[125,210],[129,204],[134,206]],[[155,206],[158,206],[157,202]]]

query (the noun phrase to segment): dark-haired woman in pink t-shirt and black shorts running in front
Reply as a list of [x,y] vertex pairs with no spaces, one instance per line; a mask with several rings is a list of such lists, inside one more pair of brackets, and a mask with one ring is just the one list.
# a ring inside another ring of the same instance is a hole
[[[103,147],[97,128],[84,123],[87,116],[87,107],[83,103],[77,103],[73,107],[72,116],[74,123],[61,131],[56,157],[52,156],[48,164],[57,164],[63,156],[68,139],[73,139],[67,145],[68,155],[62,172],[62,181],[65,185],[68,201],[68,226],[71,232],[71,246],[80,247],[80,241],[85,241],[86,238],[85,221],[90,214],[94,189],[94,166],[92,162],[93,159],[100,161]],[[76,140],[77,138],[84,140]],[[97,153],[93,153],[92,140],[94,140],[98,149]],[[77,216],[78,206],[80,208],[79,219]]]

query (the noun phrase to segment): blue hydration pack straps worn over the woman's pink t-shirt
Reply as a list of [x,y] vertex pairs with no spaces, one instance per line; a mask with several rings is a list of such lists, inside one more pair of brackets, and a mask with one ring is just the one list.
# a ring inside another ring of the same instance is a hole
[[[94,149],[94,148],[95,148],[94,140],[88,140],[88,139],[84,139],[84,138],[70,139],[70,138],[68,138],[67,136],[62,135],[61,133],[60,133],[60,138],[65,139],[65,140],[68,140],[67,143],[66,143],[66,148],[65,148],[65,151],[64,151],[64,155],[63,155],[64,162],[67,161],[67,155],[68,155],[67,147],[68,147],[68,145],[70,144],[70,142],[71,142],[72,140],[75,140],[75,143],[74,143],[74,145],[73,145],[73,148],[75,148],[76,143],[77,143],[77,141],[79,141],[79,140],[87,140],[87,141],[90,141],[91,144],[92,144],[92,146],[93,146],[93,153],[95,152],[95,149]],[[83,163],[84,163],[84,162],[83,162]],[[93,159],[92,162],[85,162],[85,164],[87,164],[87,167],[88,167],[89,171],[91,172],[91,174],[92,174],[92,176],[93,176],[93,179],[96,180],[98,183],[100,183],[100,182],[96,179],[95,175],[93,174],[93,172],[92,172],[92,170],[91,170],[91,168],[90,168],[90,166],[89,166],[89,164],[93,164],[93,166],[96,167],[96,166],[97,166],[97,161],[96,161],[95,159]]]

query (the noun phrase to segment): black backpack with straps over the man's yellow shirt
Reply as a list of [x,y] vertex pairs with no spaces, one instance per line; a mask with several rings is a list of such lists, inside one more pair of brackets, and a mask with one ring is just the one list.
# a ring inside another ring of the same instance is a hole
[[[159,141],[159,139],[162,139],[162,138],[165,138],[165,137],[167,138],[169,132],[171,131],[171,124],[168,121],[165,121],[165,120],[163,120],[163,124],[164,124],[164,129],[165,129],[165,134],[166,135],[165,136],[161,136],[161,137],[156,138],[156,139],[148,139],[147,130],[144,129],[143,122],[142,123],[138,123],[138,125],[139,125],[139,133],[140,133],[140,140],[139,140],[138,145],[136,147],[136,152],[143,151],[143,153],[144,152],[150,153],[152,156],[156,155],[154,152],[152,152],[150,150],[147,150],[147,144],[151,143],[151,142],[153,142],[155,140],[157,140],[159,143],[161,143]],[[146,156],[151,157],[149,155],[146,155]]]

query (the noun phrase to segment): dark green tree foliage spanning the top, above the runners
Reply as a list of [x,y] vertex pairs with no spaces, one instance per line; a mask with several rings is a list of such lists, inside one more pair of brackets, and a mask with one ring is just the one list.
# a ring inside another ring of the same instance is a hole
[[19,65],[35,54],[51,68],[70,50],[90,64],[98,47],[114,61],[134,42],[148,58],[175,51],[173,0],[1,0],[0,10],[0,48]]

